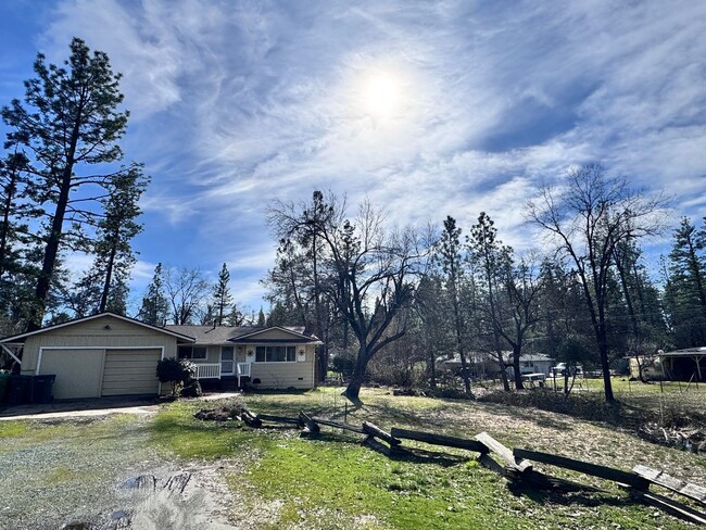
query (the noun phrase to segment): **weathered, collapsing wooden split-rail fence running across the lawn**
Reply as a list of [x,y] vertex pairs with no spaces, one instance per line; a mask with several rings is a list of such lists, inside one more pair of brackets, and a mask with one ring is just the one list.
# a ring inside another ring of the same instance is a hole
[[[320,432],[322,427],[343,429],[365,436],[363,443],[377,450],[384,450],[389,454],[408,454],[413,456],[414,451],[408,446],[404,446],[403,440],[467,450],[478,453],[478,460],[484,467],[502,475],[508,480],[522,483],[530,488],[564,491],[591,489],[577,482],[540,472],[534,469],[532,463],[549,464],[617,482],[619,485],[626,488],[633,499],[640,502],[656,506],[695,525],[706,525],[705,513],[675,499],[654,493],[650,491],[650,487],[659,485],[672,493],[690,499],[695,505],[703,506],[706,506],[706,488],[685,482],[665,471],[645,466],[635,466],[632,471],[625,471],[551,453],[541,453],[525,449],[509,449],[487,432],[481,432],[474,439],[449,437],[396,427],[393,427],[388,432],[369,421],[363,421],[358,426],[345,421],[320,418],[303,411],[299,413],[298,417],[286,417],[270,414],[253,414],[248,409],[243,409],[239,418],[253,428],[263,427],[267,422],[297,426],[302,430],[302,436],[316,436]],[[384,442],[387,446],[379,441]]]

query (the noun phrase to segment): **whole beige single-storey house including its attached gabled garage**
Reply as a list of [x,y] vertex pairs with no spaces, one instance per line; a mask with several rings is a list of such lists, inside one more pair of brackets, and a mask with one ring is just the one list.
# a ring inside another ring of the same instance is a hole
[[189,358],[197,378],[234,387],[313,388],[318,343],[295,328],[159,327],[113,313],[0,340],[21,374],[56,376],[56,399],[161,393],[155,374],[164,357]]

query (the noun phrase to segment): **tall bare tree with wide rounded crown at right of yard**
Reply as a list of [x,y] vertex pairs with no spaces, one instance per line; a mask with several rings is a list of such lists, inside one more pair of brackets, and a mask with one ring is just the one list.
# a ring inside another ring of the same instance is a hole
[[603,369],[605,399],[614,401],[607,329],[607,286],[614,250],[628,239],[661,232],[667,204],[661,193],[633,190],[625,176],[609,177],[597,164],[571,169],[560,188],[543,187],[528,202],[528,219],[549,234],[576,266],[591,315]]

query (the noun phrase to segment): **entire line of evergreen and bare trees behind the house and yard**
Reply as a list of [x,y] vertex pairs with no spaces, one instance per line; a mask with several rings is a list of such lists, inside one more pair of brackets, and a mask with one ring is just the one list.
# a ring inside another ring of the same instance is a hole
[[[34,71],[24,99],[0,111],[3,335],[127,312],[149,182],[141,164],[124,162],[129,113],[105,53],[75,38],[62,66],[38,54]],[[593,363],[612,400],[609,370],[625,355],[705,344],[706,219],[671,227],[671,251],[655,264],[642,244],[670,229],[661,194],[587,165],[528,195],[527,232],[538,234],[541,252],[504,244],[484,212],[465,229],[452,216],[439,228],[392,227],[369,201],[353,213],[344,198],[322,191],[306,203],[275,202],[267,316],[235,304],[225,264],[215,286],[198,269],[157,265],[137,316],[155,325],[304,326],[323,342],[320,377],[348,359],[352,399],[370,373],[408,379],[419,365],[434,387],[437,359],[452,356],[471,393],[479,354],[493,359],[505,389],[521,388],[521,355],[542,352]],[[91,260],[79,276],[67,265],[76,253]]]

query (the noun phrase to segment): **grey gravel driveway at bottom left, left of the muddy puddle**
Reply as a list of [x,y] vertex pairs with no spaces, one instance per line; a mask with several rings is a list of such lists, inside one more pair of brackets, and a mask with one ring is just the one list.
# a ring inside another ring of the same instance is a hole
[[[129,506],[117,485],[168,467],[147,444],[147,421],[141,416],[33,421],[30,437],[3,439],[0,528],[58,529],[71,521],[100,528],[103,520],[118,528],[119,518],[112,516]],[[86,424],[92,425],[77,429]]]

